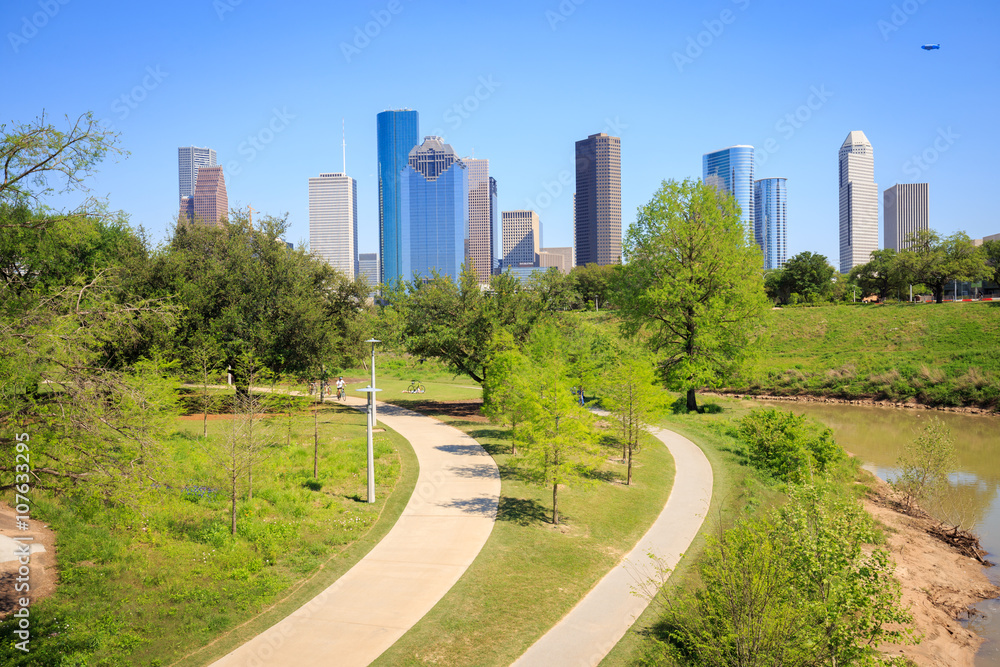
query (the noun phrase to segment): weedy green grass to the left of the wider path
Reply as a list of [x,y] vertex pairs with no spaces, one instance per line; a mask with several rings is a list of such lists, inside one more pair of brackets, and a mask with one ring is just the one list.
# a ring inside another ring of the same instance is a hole
[[[268,421],[275,443],[255,471],[253,500],[239,503],[235,538],[228,499],[198,437],[201,420],[177,420],[162,443],[168,464],[161,479],[168,481],[137,499],[135,509],[37,492],[34,515],[57,532],[60,582],[52,597],[32,606],[31,653],[5,643],[0,663],[206,664],[367,553],[415,484],[408,443],[392,431],[377,435],[377,502],[368,504],[362,414],[336,405],[320,411],[319,490],[307,485],[311,411],[293,417],[291,444],[287,418]],[[210,421],[210,437],[227,423]]]

